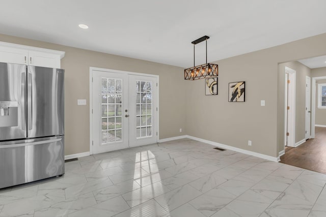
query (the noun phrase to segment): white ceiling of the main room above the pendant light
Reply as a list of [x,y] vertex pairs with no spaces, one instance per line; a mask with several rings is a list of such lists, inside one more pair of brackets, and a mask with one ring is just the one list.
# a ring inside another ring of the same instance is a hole
[[[192,41],[207,35],[208,61],[326,33],[325,0],[13,0],[0,33],[193,66]],[[81,29],[78,24],[89,25]],[[196,45],[196,65],[205,43]]]

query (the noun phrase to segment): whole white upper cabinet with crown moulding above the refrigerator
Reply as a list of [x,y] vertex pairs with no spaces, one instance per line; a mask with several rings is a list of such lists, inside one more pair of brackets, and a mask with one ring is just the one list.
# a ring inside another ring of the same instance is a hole
[[0,42],[0,62],[61,68],[65,52],[38,47]]

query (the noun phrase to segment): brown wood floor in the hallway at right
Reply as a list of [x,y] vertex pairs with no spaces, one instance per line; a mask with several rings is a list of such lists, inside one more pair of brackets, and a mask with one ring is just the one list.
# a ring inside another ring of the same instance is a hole
[[285,148],[281,163],[326,174],[326,128],[315,128],[315,138]]

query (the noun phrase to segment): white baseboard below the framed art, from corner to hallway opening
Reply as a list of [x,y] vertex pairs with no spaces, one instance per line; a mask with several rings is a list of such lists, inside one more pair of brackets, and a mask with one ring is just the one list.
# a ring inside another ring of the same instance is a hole
[[257,152],[254,152],[254,151],[244,150],[242,148],[237,148],[237,147],[225,145],[225,144],[221,144],[221,143],[218,143],[218,142],[212,142],[212,141],[197,138],[197,137],[194,137],[194,136],[186,136],[186,138],[193,139],[193,140],[196,140],[196,141],[199,141],[199,142],[204,142],[204,143],[207,143],[207,144],[210,144],[210,145],[218,146],[220,148],[225,148],[225,149],[237,151],[237,152],[244,153],[244,154],[249,154],[251,156],[266,159],[266,160],[269,160],[269,161],[274,161],[274,162],[278,161],[278,158],[271,157],[271,156],[268,156],[266,154],[261,154],[261,153],[257,153]]

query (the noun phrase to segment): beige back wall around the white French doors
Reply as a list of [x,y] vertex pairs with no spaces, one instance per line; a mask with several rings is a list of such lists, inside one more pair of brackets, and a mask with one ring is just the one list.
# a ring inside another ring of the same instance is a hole
[[[0,35],[0,41],[65,51],[65,154],[90,150],[90,67],[159,75],[159,137],[184,135],[185,84],[183,69],[150,61],[94,52],[58,44]],[[87,99],[87,106],[77,106]]]

